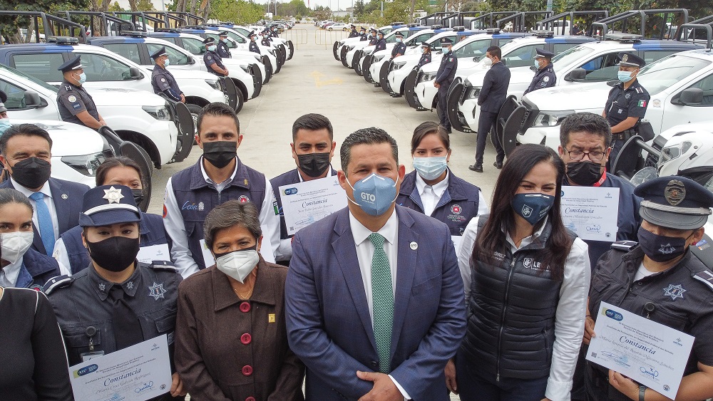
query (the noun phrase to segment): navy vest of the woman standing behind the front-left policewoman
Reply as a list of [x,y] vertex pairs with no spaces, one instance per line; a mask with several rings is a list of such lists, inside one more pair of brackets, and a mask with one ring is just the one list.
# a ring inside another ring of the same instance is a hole
[[[163,228],[163,219],[158,214],[142,213],[140,230],[140,246],[169,244],[168,236]],[[60,236],[67,249],[69,266],[72,274],[84,270],[91,263],[87,249],[82,244],[82,227],[76,226]],[[170,244],[168,245],[170,249]]]

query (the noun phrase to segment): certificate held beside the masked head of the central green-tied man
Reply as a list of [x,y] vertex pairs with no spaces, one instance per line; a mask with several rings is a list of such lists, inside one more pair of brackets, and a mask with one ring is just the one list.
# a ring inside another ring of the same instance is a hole
[[288,235],[347,207],[347,192],[336,175],[282,185],[278,190]]

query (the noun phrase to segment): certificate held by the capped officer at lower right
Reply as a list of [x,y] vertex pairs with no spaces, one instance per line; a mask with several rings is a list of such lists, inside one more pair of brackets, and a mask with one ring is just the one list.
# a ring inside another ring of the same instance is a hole
[[673,400],[694,337],[602,302],[587,360]]

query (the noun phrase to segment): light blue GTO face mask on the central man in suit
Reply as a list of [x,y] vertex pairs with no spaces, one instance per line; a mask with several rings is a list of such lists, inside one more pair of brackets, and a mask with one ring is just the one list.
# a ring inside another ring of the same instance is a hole
[[[347,179],[347,184],[352,187]],[[349,202],[356,204],[371,216],[381,216],[389,210],[391,204],[396,200],[396,182],[389,177],[381,177],[372,173],[369,177],[361,179],[354,184],[354,200]]]

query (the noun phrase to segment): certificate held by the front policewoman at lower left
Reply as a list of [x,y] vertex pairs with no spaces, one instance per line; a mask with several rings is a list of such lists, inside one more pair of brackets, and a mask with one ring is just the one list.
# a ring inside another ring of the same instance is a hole
[[69,368],[76,400],[145,401],[171,388],[168,340],[160,335]]

